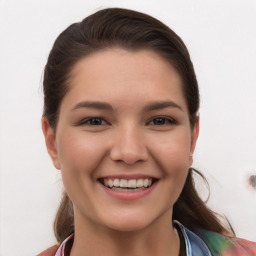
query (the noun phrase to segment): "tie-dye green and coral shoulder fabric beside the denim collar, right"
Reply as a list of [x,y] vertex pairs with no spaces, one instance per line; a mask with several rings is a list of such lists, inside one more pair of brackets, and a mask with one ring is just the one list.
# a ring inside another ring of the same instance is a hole
[[245,239],[233,238],[207,230],[199,230],[198,235],[209,247],[213,256],[253,256],[256,255],[256,243]]

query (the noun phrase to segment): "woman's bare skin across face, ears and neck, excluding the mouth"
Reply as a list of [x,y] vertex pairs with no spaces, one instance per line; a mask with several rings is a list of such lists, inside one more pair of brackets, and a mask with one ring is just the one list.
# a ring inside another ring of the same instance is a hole
[[[56,132],[42,119],[48,152],[74,205],[71,256],[178,255],[172,207],[199,132],[198,122],[190,127],[181,88],[171,64],[149,50],[108,49],[74,66]],[[99,182],[113,175],[158,181],[147,196],[120,200]]]

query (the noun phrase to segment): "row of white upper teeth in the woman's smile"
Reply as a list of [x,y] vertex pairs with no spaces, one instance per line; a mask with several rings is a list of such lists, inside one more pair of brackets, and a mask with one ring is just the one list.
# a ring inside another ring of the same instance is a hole
[[152,184],[152,179],[104,179],[104,185],[108,187],[120,188],[141,188],[149,187]]

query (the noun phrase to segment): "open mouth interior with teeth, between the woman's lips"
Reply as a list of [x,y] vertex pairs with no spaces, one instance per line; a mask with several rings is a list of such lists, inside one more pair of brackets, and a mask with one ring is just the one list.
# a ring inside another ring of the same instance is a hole
[[118,179],[118,178],[100,178],[99,182],[111,189],[121,192],[137,192],[149,189],[156,183],[158,179],[155,178],[139,178],[139,179]]

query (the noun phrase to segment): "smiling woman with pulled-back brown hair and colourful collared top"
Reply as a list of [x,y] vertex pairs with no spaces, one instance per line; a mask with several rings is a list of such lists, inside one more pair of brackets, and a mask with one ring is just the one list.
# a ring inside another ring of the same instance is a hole
[[65,193],[59,244],[39,255],[256,255],[194,188],[199,91],[172,30],[101,10],[60,34],[43,83],[42,128]]

